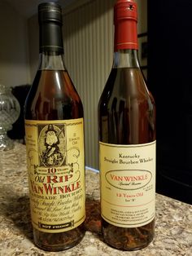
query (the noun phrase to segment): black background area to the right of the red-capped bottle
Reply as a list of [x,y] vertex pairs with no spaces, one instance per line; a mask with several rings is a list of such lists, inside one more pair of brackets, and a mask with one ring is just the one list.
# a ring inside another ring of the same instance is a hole
[[157,192],[192,204],[192,1],[148,0],[147,22]]

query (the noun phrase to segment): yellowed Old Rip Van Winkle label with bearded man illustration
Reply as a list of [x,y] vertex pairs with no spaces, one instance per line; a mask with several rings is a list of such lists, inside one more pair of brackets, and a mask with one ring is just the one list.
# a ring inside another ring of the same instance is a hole
[[83,118],[25,120],[33,227],[67,232],[85,220]]

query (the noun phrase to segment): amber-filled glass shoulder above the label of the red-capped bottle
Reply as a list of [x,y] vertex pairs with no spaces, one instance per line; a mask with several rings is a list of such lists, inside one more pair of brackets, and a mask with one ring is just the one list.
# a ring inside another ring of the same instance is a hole
[[155,140],[155,103],[140,69],[111,71],[98,104],[99,140],[112,144]]

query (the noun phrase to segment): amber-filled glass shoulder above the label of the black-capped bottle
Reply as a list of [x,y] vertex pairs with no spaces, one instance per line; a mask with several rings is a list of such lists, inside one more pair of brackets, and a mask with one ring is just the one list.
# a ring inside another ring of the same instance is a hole
[[37,71],[25,102],[25,116],[42,120],[83,116],[81,98],[67,71]]

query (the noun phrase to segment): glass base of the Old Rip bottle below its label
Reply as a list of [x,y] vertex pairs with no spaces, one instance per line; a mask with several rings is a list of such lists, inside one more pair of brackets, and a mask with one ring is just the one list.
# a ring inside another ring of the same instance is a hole
[[62,233],[46,233],[33,229],[34,244],[45,251],[59,252],[78,245],[85,236],[85,228],[76,227],[71,231]]

